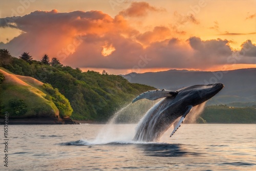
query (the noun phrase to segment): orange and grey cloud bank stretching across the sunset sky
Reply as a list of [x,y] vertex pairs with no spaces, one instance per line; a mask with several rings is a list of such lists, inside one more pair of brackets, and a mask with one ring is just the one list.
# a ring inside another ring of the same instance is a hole
[[[241,45],[241,51],[235,51],[228,40],[190,37],[183,41],[164,26],[141,33],[125,18],[146,16],[148,11],[161,12],[162,9],[147,3],[132,3],[114,18],[101,11],[60,13],[57,10],[0,18],[0,27],[22,31],[7,44],[0,43],[0,48],[8,49],[14,56],[30,52],[37,60],[48,54],[64,65],[80,68],[132,69],[139,66],[205,70],[234,62],[256,62],[256,46],[250,40]],[[200,24],[194,16],[187,20]]]

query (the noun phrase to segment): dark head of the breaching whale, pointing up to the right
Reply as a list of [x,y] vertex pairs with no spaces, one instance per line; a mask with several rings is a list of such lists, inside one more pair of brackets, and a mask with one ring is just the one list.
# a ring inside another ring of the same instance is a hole
[[198,105],[215,96],[224,88],[223,83],[195,85],[178,90],[177,99],[186,105]]

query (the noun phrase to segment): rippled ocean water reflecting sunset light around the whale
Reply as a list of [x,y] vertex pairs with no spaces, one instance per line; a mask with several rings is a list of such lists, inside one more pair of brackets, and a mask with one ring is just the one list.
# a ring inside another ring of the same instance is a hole
[[256,170],[255,124],[183,124],[151,143],[132,141],[135,128],[9,125],[0,170]]

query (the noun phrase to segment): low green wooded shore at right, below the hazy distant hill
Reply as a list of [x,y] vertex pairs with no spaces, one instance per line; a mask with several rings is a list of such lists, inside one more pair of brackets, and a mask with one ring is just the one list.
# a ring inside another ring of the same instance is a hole
[[227,105],[206,106],[201,117],[207,123],[255,123],[256,106],[234,108]]

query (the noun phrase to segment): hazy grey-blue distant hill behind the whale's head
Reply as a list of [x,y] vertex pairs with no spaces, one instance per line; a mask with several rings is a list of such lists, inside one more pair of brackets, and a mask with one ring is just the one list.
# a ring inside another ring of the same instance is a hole
[[217,72],[169,70],[122,76],[133,83],[167,90],[178,90],[194,84],[224,83],[225,88],[210,99],[208,105],[256,101],[256,68]]

